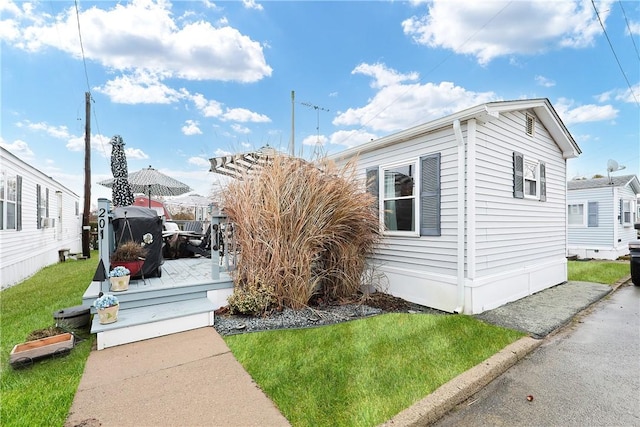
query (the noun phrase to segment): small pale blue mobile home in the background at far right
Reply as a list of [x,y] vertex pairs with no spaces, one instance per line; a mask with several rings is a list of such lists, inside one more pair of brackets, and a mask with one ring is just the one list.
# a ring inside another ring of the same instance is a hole
[[637,239],[636,175],[577,179],[567,183],[569,255],[579,258],[617,259],[629,253]]

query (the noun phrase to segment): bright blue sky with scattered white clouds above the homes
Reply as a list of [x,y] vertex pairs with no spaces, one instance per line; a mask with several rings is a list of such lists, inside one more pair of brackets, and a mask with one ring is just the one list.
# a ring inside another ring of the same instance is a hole
[[209,158],[286,151],[292,90],[305,157],[546,97],[583,151],[568,179],[640,175],[637,1],[0,0],[0,21],[0,144],[82,196],[89,91],[94,203],[116,134],[129,172],[203,195]]

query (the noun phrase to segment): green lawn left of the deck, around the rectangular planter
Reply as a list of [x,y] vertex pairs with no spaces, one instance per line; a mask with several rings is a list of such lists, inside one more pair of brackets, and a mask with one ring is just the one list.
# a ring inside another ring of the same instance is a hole
[[97,252],[85,261],[46,267],[18,286],[0,292],[0,425],[62,426],[84,371],[93,336],[68,356],[37,361],[15,370],[9,353],[34,330],[55,325],[53,313],[79,305],[98,263]]

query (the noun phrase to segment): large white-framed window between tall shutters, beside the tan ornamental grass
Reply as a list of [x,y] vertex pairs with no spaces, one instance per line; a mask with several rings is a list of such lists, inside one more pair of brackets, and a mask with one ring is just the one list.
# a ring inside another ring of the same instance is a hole
[[415,179],[418,162],[383,167],[382,209],[384,230],[416,232],[417,202]]

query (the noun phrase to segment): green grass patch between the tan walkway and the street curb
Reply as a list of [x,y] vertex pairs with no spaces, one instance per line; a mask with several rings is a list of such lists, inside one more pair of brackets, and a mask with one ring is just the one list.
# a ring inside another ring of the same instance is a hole
[[470,316],[394,313],[225,341],[294,426],[374,426],[522,336]]

